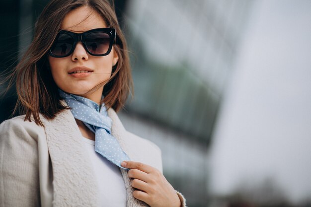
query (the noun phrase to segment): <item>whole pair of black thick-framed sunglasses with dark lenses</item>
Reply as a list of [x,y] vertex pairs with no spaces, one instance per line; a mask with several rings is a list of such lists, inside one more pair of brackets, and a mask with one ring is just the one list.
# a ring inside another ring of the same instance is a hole
[[67,57],[74,52],[77,43],[82,42],[88,54],[106,56],[111,52],[115,38],[114,28],[97,28],[83,33],[61,30],[58,32],[49,54],[54,58]]

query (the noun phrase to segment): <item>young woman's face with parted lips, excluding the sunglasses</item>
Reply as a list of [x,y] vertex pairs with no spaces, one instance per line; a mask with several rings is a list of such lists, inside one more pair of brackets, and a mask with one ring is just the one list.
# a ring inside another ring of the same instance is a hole
[[[107,26],[102,17],[87,6],[69,12],[61,25],[62,30],[75,33],[104,27]],[[117,63],[118,56],[113,47],[107,56],[92,56],[85,51],[82,43],[78,42],[70,56],[65,58],[49,56],[48,59],[53,79],[60,89],[84,96],[98,103],[104,86],[92,93],[85,93],[110,77],[112,66]]]

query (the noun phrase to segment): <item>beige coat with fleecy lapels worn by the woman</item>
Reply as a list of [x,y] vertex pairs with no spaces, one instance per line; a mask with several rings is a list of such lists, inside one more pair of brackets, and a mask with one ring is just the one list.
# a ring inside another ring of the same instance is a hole
[[[133,161],[162,172],[161,151],[153,142],[127,132],[113,109],[112,135]],[[41,117],[45,128],[24,116],[0,125],[0,207],[98,207],[97,183],[70,110],[54,120]],[[146,207],[133,197],[127,171],[120,168],[127,207]],[[177,192],[177,191],[176,191]],[[177,192],[182,206],[185,200]]]

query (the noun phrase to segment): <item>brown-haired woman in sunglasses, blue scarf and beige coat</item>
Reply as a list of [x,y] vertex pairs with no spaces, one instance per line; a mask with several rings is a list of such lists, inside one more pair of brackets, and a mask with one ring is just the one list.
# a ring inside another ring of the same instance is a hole
[[115,113],[131,75],[108,1],[52,0],[14,74],[25,115],[0,125],[0,206],[186,206]]

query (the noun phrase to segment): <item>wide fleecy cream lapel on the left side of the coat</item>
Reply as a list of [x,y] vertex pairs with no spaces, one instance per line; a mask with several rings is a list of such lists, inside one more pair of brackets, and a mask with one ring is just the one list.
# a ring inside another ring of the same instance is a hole
[[98,207],[95,175],[71,111],[43,124],[53,169],[53,206]]

